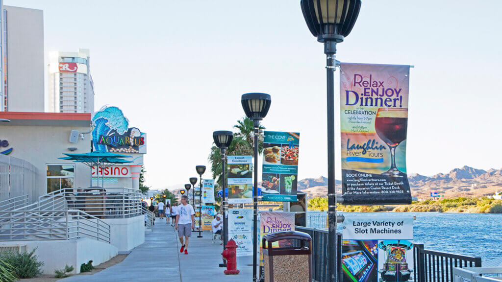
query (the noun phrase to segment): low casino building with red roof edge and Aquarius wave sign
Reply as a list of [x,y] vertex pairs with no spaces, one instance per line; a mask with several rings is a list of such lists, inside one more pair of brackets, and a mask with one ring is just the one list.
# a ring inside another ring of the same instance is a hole
[[[130,127],[117,107],[103,108],[94,116],[0,112],[2,119],[10,121],[0,122],[0,201],[28,195],[34,202],[61,188],[139,188],[146,134]],[[109,142],[100,143],[99,139]],[[126,140],[130,143],[126,144]],[[59,159],[64,153],[91,150],[128,155],[131,158],[126,160],[131,163],[101,170]]]

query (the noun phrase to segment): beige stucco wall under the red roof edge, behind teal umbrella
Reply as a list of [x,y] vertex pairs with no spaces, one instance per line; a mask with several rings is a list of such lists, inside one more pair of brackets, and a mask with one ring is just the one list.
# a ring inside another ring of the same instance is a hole
[[[74,187],[89,187],[90,169],[87,166],[58,160],[58,158],[64,157],[63,153],[90,152],[90,134],[85,134],[84,140],[79,137],[78,143],[69,142],[71,130],[86,132],[89,131],[89,128],[82,126],[2,126],[0,139],[7,139],[13,148],[13,152],[9,156],[23,159],[38,169],[36,193],[30,195],[32,196],[31,201],[47,193],[46,165],[48,164],[74,164]],[[72,147],[77,150],[73,152],[67,150]],[[11,189],[16,189],[16,187]]]

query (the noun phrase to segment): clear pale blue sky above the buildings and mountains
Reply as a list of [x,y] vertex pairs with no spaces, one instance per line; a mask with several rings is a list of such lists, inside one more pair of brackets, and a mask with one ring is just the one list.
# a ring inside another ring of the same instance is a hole
[[[326,176],[325,57],[299,0],[82,3],[4,0],[44,10],[46,54],[90,49],[96,109],[116,105],[148,133],[153,189],[196,175],[246,92],[272,95],[268,129],[301,132],[299,179]],[[409,173],[502,167],[500,11],[499,0],[363,0],[338,44],[342,62],[415,65]]]

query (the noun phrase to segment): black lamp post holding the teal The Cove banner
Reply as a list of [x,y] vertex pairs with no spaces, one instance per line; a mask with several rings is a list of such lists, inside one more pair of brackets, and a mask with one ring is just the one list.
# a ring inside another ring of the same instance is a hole
[[240,103],[246,116],[253,120],[255,127],[254,140],[254,156],[255,156],[255,176],[253,184],[253,282],[257,281],[257,265],[258,265],[258,245],[257,245],[257,230],[258,230],[258,128],[260,120],[262,120],[270,109],[272,102],[270,95],[265,93],[246,93],[240,98]]

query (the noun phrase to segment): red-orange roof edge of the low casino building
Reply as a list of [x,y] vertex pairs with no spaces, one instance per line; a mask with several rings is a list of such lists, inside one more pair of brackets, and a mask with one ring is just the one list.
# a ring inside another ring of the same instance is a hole
[[88,126],[91,124],[90,113],[63,112],[18,112],[0,111],[0,118],[9,119],[2,122],[7,126]]

